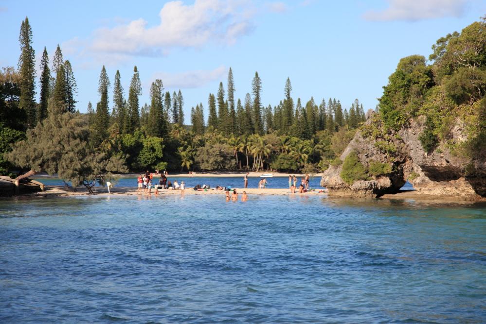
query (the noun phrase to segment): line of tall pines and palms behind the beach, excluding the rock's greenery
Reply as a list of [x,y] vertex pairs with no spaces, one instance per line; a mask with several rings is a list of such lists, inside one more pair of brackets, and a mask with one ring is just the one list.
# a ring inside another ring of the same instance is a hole
[[282,100],[264,106],[258,72],[243,101],[236,99],[230,68],[226,89],[221,82],[216,94],[209,94],[207,110],[202,102],[192,107],[186,125],[182,92],[164,91],[160,79],[150,86],[149,104],[140,104],[136,66],[127,96],[119,70],[111,88],[103,66],[98,100],[81,114],[72,65],[59,45],[52,65],[44,47],[36,100],[32,39],[26,17],[18,68],[0,72],[2,174],[32,169],[90,185],[109,172],[149,168],[315,171],[342,152],[366,119],[358,100],[349,109],[331,98],[319,104],[313,98],[305,104],[300,98],[294,101],[289,78]]

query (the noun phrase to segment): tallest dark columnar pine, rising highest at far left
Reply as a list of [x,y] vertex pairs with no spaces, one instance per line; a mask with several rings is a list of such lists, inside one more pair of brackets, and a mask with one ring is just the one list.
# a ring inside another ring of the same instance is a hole
[[20,25],[20,57],[18,58],[18,71],[20,73],[20,98],[18,108],[24,109],[27,114],[27,125],[35,127],[37,123],[36,101],[36,53],[32,48],[32,29],[29,18],[25,17]]

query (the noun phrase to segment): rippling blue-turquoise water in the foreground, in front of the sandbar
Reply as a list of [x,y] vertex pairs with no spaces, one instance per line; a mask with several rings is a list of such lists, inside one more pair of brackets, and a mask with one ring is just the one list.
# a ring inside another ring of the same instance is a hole
[[0,200],[1,323],[485,323],[486,205]]

